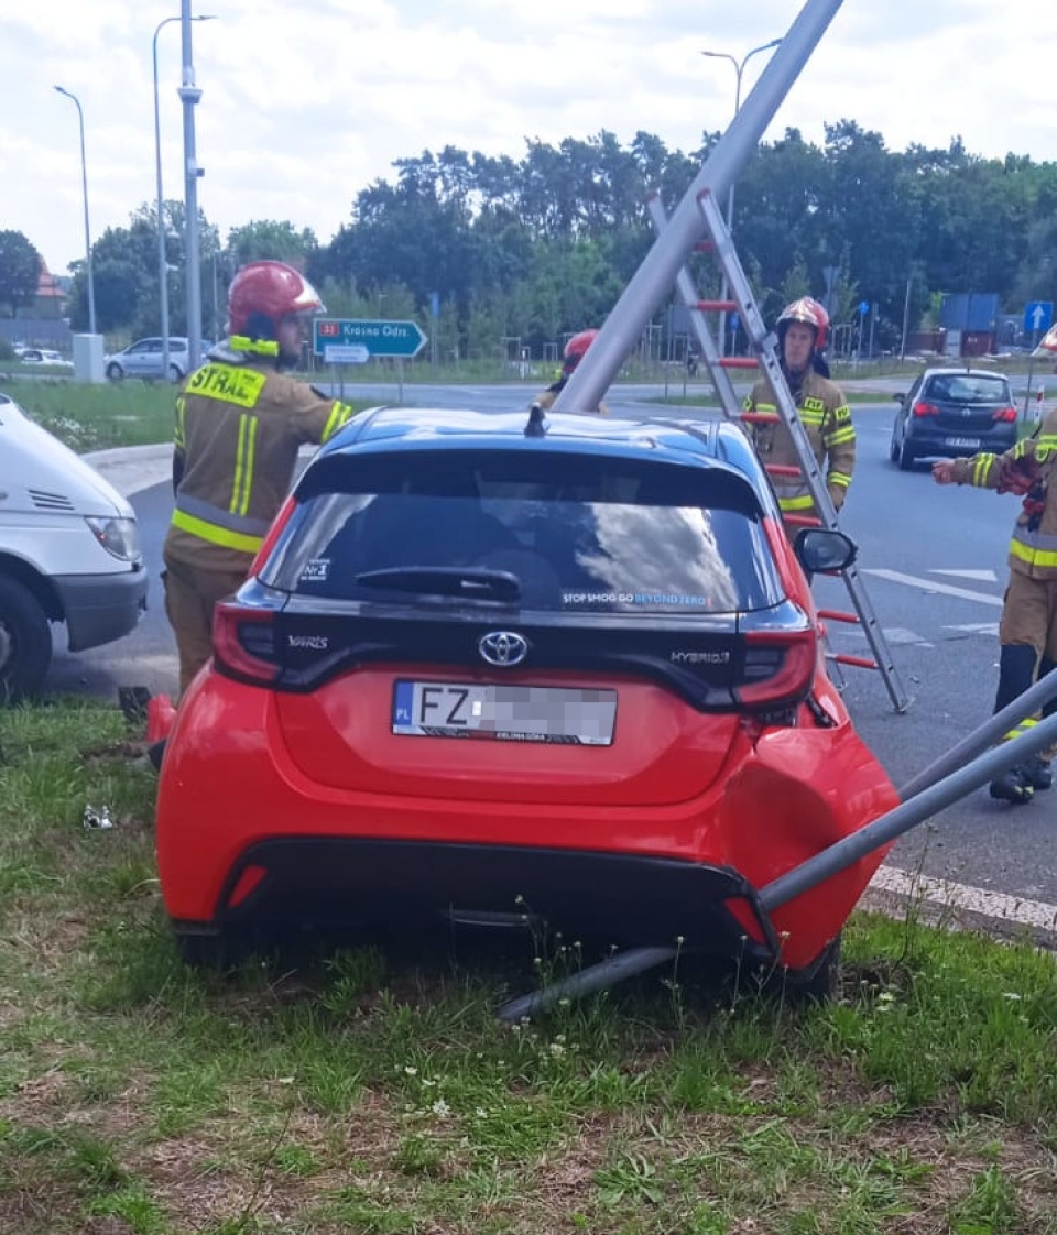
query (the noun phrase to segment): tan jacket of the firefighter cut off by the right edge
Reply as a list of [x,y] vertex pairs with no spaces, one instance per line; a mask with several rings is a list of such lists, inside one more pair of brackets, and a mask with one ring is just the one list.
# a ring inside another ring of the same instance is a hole
[[958,484],[1022,496],[1009,568],[1032,579],[1057,579],[1057,411],[1005,454],[955,459],[952,475]]

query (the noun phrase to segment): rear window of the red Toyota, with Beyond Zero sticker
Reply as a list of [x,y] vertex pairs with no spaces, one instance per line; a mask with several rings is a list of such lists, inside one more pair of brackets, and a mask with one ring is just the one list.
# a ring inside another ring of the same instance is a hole
[[[305,475],[264,583],[301,597],[422,603],[372,572],[470,568],[517,580],[521,608],[716,614],[783,592],[747,480],[549,452],[332,456]],[[432,598],[448,603],[443,598]]]

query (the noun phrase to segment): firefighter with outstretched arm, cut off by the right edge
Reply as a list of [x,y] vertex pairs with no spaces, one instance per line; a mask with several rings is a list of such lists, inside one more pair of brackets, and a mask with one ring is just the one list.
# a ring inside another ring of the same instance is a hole
[[[1004,454],[982,453],[932,466],[937,484],[972,484],[1022,498],[1009,545],[1009,584],[998,627],[995,711],[1001,711],[1036,678],[1057,666],[1057,492],[1051,487],[1055,471],[1057,410],[1047,415],[1031,437]],[[1042,715],[1055,711],[1057,699],[1043,706]],[[1036,718],[1025,719],[1003,741],[1035,724]],[[990,795],[1017,805],[1031,802],[1036,789],[1048,789],[1053,783],[1055,753],[1057,747],[1051,746],[1008,768],[992,781]]]

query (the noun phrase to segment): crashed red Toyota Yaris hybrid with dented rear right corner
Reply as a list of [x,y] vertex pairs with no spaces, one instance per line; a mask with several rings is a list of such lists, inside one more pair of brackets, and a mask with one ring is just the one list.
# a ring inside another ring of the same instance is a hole
[[[531,915],[819,981],[882,852],[757,892],[898,804],[724,422],[364,412],[312,459],[162,767],[191,960],[244,927]],[[798,561],[799,558],[799,561]]]

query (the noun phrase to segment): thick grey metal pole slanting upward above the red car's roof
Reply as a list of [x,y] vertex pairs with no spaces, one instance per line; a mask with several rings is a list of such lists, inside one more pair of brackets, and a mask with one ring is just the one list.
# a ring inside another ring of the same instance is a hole
[[554,411],[598,408],[658,305],[672,290],[683,263],[704,236],[699,196],[710,191],[720,199],[730,189],[840,6],[841,0],[808,0],[800,10],[730,128],[673,210],[667,227],[631,277],[568,384],[558,393]]

